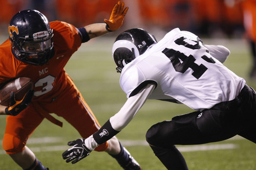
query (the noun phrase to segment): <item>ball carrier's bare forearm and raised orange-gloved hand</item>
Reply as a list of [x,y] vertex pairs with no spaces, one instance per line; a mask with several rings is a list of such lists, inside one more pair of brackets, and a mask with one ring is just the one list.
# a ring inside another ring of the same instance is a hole
[[88,26],[85,26],[87,33],[89,34],[90,39],[104,35],[111,31],[118,30],[122,24],[123,19],[128,10],[128,7],[124,9],[124,3],[118,1],[115,4],[110,19],[104,19],[105,23],[94,23]]

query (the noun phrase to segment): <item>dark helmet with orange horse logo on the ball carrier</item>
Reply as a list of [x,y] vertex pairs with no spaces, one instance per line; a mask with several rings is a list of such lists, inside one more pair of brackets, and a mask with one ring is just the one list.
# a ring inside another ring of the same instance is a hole
[[15,14],[9,24],[12,54],[20,61],[44,65],[54,56],[53,30],[48,19],[36,10]]

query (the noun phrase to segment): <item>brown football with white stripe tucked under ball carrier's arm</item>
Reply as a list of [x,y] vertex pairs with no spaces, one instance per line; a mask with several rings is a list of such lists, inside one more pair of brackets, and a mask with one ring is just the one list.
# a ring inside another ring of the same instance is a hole
[[15,92],[15,100],[20,101],[24,98],[29,89],[34,88],[34,83],[30,78],[19,77],[6,83],[0,89],[0,104],[9,106],[11,92]]

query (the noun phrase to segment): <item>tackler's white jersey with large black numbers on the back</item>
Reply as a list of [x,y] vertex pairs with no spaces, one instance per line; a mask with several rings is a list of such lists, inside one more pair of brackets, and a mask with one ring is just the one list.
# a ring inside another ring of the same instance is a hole
[[157,85],[148,99],[203,110],[236,98],[245,80],[212,57],[195,34],[177,28],[122,69],[127,98],[148,83]]

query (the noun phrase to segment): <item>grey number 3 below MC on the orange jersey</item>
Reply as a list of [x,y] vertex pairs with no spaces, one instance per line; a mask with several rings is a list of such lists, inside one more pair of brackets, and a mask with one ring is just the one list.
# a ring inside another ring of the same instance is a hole
[[52,90],[55,77],[48,75],[45,78],[39,79],[35,83],[35,87],[41,87],[41,91],[35,91],[34,95],[39,96]]

